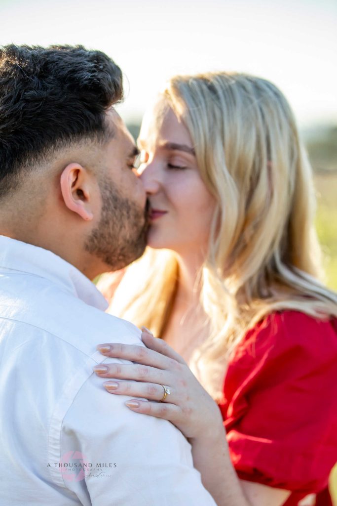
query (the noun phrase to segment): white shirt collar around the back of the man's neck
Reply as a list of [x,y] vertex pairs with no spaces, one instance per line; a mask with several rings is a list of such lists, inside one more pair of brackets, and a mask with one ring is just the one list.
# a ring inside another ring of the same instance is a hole
[[1,267],[49,279],[102,311],[108,307],[102,293],[84,274],[47,249],[0,235]]

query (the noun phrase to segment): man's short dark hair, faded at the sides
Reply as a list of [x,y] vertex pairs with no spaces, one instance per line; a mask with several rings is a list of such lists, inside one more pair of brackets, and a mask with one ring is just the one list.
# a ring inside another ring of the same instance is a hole
[[55,149],[106,140],[105,112],[122,98],[122,72],[100,51],[0,48],[0,198]]

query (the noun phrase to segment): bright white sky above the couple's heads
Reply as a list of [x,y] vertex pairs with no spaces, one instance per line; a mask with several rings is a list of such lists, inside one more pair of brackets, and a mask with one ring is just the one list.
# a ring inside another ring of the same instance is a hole
[[0,0],[0,45],[82,44],[121,66],[137,120],[175,73],[272,80],[302,127],[337,123],[336,0]]

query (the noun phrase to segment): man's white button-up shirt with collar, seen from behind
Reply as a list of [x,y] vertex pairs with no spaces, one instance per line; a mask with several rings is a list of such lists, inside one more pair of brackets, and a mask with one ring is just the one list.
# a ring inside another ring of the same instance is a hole
[[1,506],[214,506],[190,445],[92,371],[96,345],[142,345],[51,251],[0,236]]

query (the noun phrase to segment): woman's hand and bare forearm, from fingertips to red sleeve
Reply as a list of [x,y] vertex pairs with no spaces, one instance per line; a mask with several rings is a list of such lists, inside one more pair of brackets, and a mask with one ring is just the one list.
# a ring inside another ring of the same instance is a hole
[[[203,484],[219,506],[283,504],[290,492],[238,480],[228,453],[220,410],[180,355],[165,341],[154,338],[145,327],[141,339],[146,348],[120,343],[97,347],[106,357],[137,362],[95,366],[93,369],[100,377],[123,379],[105,382],[107,391],[135,397],[125,403],[132,411],[165,418],[180,429],[190,440],[194,466],[200,471]],[[108,370],[99,372],[103,366]],[[170,394],[159,402],[164,395],[162,385],[169,388]]]

